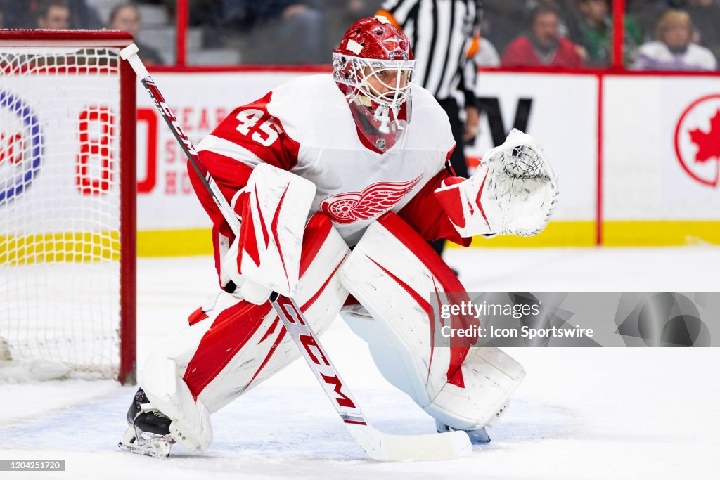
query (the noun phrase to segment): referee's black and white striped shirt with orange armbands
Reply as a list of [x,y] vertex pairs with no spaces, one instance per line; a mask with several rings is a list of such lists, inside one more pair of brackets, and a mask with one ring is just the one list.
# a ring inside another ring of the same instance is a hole
[[438,100],[459,89],[474,105],[477,65],[472,59],[479,41],[480,0],[386,0],[385,15],[410,38],[415,55],[414,82]]

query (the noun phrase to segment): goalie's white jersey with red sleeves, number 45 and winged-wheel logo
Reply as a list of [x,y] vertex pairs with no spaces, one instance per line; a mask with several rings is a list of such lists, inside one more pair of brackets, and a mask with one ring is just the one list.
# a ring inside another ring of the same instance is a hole
[[[445,165],[455,142],[448,117],[428,91],[411,88],[410,123],[385,152],[361,140],[348,101],[329,74],[294,79],[238,107],[197,150],[228,201],[261,162],[312,181],[317,193],[311,213],[328,214],[349,245],[391,210],[429,240],[462,242],[432,194],[450,176]],[[232,234],[192,170],[191,179],[221,235],[217,253]]]

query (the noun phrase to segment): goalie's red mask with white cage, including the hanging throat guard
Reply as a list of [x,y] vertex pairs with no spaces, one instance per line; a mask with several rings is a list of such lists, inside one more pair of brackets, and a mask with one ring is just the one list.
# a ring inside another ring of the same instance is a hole
[[355,22],[333,50],[333,78],[358,130],[379,150],[395,145],[410,121],[414,70],[410,40],[385,17]]

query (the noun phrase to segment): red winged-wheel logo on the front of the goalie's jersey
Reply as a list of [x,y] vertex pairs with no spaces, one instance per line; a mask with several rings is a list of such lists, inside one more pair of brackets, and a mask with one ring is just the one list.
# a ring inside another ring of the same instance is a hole
[[404,182],[379,182],[362,191],[328,196],[320,201],[320,210],[333,222],[349,224],[379,217],[395,207],[403,196],[418,184],[423,174]]

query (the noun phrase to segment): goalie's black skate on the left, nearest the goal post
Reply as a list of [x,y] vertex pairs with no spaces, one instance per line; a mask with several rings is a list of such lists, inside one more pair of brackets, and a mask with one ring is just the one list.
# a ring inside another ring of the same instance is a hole
[[170,435],[171,420],[150,404],[145,391],[138,389],[127,410],[128,427],[117,444],[122,450],[151,457],[167,457],[175,440]]

